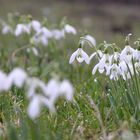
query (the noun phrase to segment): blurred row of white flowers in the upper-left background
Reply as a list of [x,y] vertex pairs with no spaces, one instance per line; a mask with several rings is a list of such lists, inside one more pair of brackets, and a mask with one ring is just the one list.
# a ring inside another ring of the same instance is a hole
[[27,34],[31,36],[31,43],[42,44],[43,46],[48,45],[49,39],[60,40],[65,37],[66,33],[73,35],[77,33],[76,29],[69,24],[65,24],[62,29],[49,29],[38,20],[31,20],[27,23],[17,23],[15,28],[5,22],[1,22],[1,24],[3,34],[11,33],[16,37]]

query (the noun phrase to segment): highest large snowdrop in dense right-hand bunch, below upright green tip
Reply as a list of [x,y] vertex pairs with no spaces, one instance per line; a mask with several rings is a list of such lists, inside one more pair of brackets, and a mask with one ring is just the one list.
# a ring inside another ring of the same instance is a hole
[[130,45],[126,45],[120,54],[120,59],[129,63],[134,57],[134,54],[135,54],[135,49],[133,49]]

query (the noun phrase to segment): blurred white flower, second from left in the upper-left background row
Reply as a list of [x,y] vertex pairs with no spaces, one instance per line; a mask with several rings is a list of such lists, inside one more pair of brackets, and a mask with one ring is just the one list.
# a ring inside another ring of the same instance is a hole
[[17,24],[15,29],[15,36],[19,36],[22,33],[30,33],[30,26],[28,24]]

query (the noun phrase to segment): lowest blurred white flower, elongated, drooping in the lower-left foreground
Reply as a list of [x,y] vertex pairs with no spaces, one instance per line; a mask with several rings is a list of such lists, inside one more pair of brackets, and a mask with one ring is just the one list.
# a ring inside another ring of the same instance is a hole
[[35,119],[40,115],[41,111],[41,96],[34,96],[28,106],[27,113],[31,119]]

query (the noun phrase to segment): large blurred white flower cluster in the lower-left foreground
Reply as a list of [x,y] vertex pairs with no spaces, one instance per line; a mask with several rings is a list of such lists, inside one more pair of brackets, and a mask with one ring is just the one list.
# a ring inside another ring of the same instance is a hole
[[0,71],[0,92],[10,90],[13,85],[18,88],[24,85],[27,87],[27,98],[30,102],[27,112],[31,119],[39,116],[42,105],[55,112],[55,102],[60,96],[68,101],[73,99],[74,89],[68,80],[60,82],[51,79],[45,84],[35,77],[29,77],[21,68],[15,68],[8,75]]

